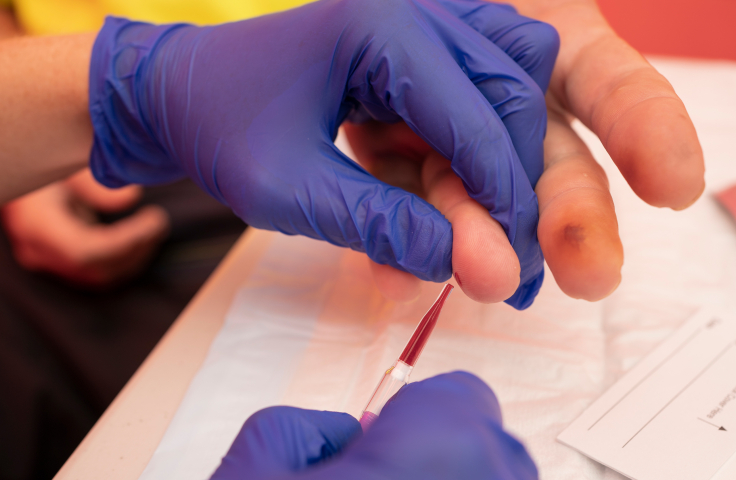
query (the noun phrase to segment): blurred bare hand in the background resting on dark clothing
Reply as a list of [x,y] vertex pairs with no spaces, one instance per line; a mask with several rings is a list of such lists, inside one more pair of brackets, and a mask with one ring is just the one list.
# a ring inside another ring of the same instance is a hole
[[140,187],[112,190],[89,170],[19,198],[2,210],[18,262],[87,286],[107,286],[139,272],[169,228],[166,212],[147,206],[111,224],[96,212],[133,207]]

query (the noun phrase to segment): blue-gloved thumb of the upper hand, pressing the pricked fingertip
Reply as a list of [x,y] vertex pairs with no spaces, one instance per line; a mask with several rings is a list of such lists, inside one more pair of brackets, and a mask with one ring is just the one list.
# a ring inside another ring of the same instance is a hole
[[[325,142],[325,148],[298,165],[290,155],[286,152],[288,161],[280,161],[275,154],[270,171],[259,173],[269,175],[269,182],[253,182],[255,188],[244,190],[234,183],[237,178],[223,179],[233,182],[223,191],[238,192],[226,199],[228,204],[249,225],[365,252],[376,263],[422,280],[450,278],[452,227],[436,208],[379,181],[334,144]],[[288,189],[273,187],[272,178],[279,177]]]

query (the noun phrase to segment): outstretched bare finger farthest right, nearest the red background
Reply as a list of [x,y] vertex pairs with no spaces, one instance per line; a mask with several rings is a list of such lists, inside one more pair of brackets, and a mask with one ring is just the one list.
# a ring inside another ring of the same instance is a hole
[[598,135],[644,201],[692,204],[705,188],[703,152],[669,82],[613,32],[595,2],[541,3],[520,7],[560,34],[553,95]]

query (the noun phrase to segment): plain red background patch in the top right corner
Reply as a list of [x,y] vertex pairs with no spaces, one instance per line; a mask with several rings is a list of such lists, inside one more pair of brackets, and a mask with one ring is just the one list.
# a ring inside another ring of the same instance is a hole
[[736,0],[598,4],[613,29],[642,53],[736,60]]

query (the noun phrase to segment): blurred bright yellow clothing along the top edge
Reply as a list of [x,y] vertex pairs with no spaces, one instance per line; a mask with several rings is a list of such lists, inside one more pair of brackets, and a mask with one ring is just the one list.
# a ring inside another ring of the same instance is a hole
[[[10,3],[11,0],[0,0]],[[15,0],[16,16],[31,34],[99,29],[106,15],[153,23],[232,22],[294,8],[311,0]]]

